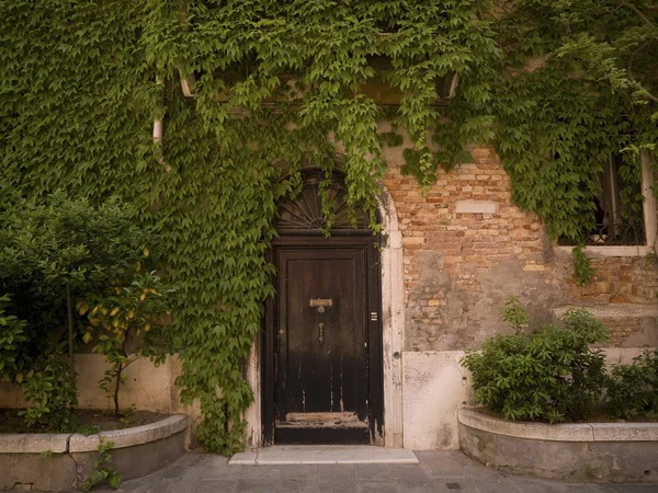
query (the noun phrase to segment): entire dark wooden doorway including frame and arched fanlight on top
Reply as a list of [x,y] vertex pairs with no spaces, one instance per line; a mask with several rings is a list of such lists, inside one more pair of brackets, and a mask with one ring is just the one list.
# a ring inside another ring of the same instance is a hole
[[324,236],[324,176],[304,172],[299,196],[280,206],[261,346],[264,444],[383,443],[379,239],[363,211],[350,219],[338,174]]

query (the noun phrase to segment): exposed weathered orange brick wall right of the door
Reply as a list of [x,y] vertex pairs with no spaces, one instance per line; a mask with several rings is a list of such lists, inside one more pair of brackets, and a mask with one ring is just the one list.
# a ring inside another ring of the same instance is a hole
[[[424,194],[402,176],[401,153],[385,151],[384,183],[398,213],[405,249],[406,351],[478,348],[509,331],[500,311],[520,296],[535,320],[565,305],[656,303],[658,276],[645,257],[594,259],[591,285],[577,287],[571,257],[545,238],[542,221],[511,203],[510,180],[490,148],[475,163],[438,173]],[[640,330],[610,319],[610,345]]]

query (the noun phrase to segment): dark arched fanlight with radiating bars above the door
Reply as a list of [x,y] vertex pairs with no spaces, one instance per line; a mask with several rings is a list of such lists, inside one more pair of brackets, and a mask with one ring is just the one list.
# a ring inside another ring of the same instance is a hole
[[326,187],[327,197],[333,214],[332,232],[367,231],[367,215],[354,207],[350,217],[347,202],[348,191],[341,173],[333,173],[331,180],[325,180],[321,170],[302,172],[302,192],[292,199],[284,200],[279,207],[275,221],[280,234],[322,233],[327,218],[322,213],[321,190]]

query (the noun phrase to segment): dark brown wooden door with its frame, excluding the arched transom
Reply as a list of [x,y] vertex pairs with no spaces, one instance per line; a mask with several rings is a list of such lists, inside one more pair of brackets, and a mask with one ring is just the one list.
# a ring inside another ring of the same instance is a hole
[[376,341],[373,349],[381,351],[376,243],[372,237],[283,243],[273,259],[274,394],[265,440],[376,443],[382,426],[381,417],[373,422],[382,414],[381,359],[371,355],[368,344],[370,339]]

